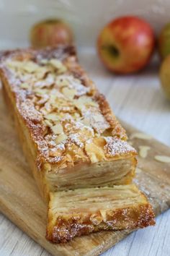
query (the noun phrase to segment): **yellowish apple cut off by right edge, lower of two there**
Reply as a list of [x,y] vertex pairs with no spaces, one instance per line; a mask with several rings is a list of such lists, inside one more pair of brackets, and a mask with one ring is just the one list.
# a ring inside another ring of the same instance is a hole
[[161,64],[160,79],[164,94],[170,100],[170,55]]

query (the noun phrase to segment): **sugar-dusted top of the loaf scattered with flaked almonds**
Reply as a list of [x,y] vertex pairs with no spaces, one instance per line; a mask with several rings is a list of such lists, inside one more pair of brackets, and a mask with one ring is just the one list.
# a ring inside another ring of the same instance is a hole
[[0,68],[37,147],[37,164],[65,168],[135,154],[73,46],[4,52]]

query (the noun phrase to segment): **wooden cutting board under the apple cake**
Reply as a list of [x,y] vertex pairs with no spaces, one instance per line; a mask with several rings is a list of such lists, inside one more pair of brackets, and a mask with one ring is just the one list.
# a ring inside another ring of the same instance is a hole
[[[128,135],[137,132],[123,123]],[[138,159],[135,182],[146,193],[156,215],[170,207],[170,163],[161,163],[155,155],[170,156],[170,148],[156,140],[132,140],[139,145],[149,145],[146,158]],[[17,135],[4,107],[0,90],[0,210],[28,236],[52,255],[99,255],[127,236],[131,231],[102,231],[81,236],[67,244],[50,244],[45,239],[46,205],[42,201],[34,179],[27,166]]]

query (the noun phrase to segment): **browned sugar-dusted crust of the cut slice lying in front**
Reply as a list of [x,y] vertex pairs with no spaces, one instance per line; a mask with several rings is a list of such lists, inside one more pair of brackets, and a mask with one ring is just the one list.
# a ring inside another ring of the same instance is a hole
[[[112,222],[112,226],[111,223]],[[89,223],[79,223],[76,219],[71,218],[68,221],[58,219],[55,226],[48,227],[46,238],[53,243],[66,243],[71,241],[75,236],[88,235],[97,231],[117,231],[122,229],[142,229],[155,224],[153,210],[151,205],[138,205],[138,208],[125,208],[112,211],[110,220],[102,222],[98,226]]]

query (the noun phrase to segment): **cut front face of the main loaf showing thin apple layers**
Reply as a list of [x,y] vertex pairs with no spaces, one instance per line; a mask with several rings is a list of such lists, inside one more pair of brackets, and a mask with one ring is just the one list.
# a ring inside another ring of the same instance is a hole
[[47,171],[46,180],[50,191],[130,184],[135,174],[134,166],[133,157],[80,164],[74,168]]

